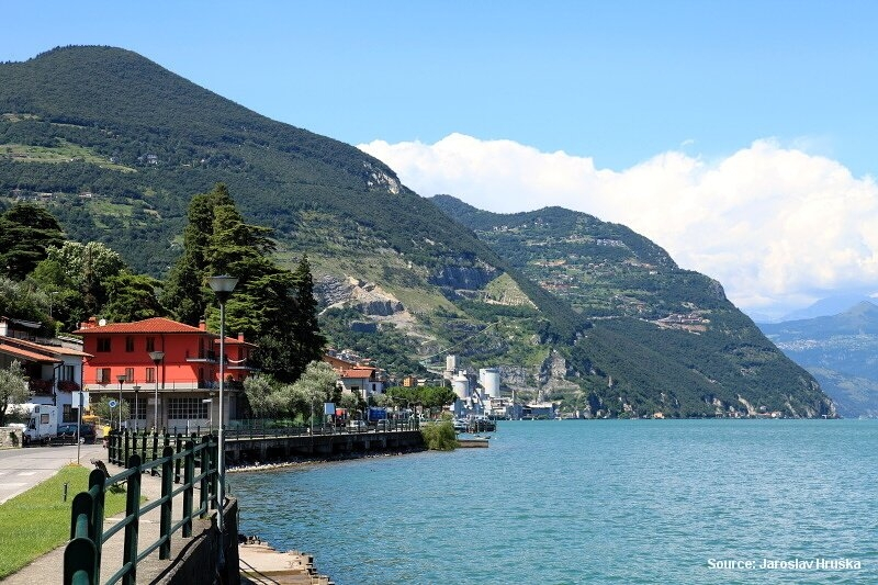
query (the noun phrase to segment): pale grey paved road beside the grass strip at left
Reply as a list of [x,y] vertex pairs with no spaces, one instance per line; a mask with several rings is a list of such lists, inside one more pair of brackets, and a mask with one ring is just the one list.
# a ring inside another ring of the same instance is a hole
[[92,459],[106,460],[106,449],[98,442],[80,445],[78,453],[76,445],[0,450],[0,504],[52,477],[64,465],[76,463],[77,457],[80,464],[90,468]]

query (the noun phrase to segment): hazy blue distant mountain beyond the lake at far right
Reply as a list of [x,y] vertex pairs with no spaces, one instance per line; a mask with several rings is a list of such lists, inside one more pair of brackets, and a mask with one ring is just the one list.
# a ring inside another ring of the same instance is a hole
[[817,378],[840,415],[878,416],[878,306],[863,301],[837,315],[759,328]]

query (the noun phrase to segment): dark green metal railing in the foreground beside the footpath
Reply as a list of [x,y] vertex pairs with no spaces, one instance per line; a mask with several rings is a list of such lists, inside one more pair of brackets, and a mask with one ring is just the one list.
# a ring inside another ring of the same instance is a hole
[[[171,537],[181,531],[183,538],[192,536],[192,520],[204,517],[211,509],[217,507],[217,446],[216,438],[206,435],[201,441],[177,438],[182,442],[180,448],[170,443],[162,447],[161,457],[144,462],[142,454],[133,452],[126,457],[127,469],[122,473],[108,477],[105,469],[95,469],[89,475],[89,488],[77,494],[74,498],[70,516],[70,541],[64,551],[64,583],[65,585],[97,585],[101,583],[101,552],[103,544],[114,535],[124,530],[124,550],[122,566],[104,583],[114,584],[120,581],[124,585],[137,582],[137,563],[146,559],[156,550],[159,559],[169,559],[171,552]],[[156,439],[158,441],[158,439]],[[125,451],[121,434],[115,441],[111,439],[110,446],[116,443],[114,449],[119,455]],[[108,446],[108,448],[110,448]],[[144,448],[146,452],[146,448]],[[155,451],[151,453],[155,455]],[[199,473],[195,474],[195,468]],[[183,475],[180,477],[180,468]],[[140,476],[142,473],[157,473],[161,475],[161,497],[147,502],[140,506]],[[113,527],[104,530],[104,497],[109,490],[125,483],[126,508],[125,517]],[[175,484],[179,484],[175,488]],[[199,507],[194,508],[194,490],[200,490]],[[173,498],[182,495],[181,519],[172,521]],[[156,508],[159,513],[159,538],[138,550],[139,518]]]

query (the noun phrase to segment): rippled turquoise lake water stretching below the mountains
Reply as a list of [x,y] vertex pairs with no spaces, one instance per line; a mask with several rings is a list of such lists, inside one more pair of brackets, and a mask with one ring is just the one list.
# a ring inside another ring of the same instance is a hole
[[878,583],[876,446],[878,421],[507,421],[229,486],[243,532],[338,585]]

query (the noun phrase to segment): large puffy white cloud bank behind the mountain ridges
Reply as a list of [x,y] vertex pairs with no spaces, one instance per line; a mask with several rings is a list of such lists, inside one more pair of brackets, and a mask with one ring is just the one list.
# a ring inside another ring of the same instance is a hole
[[779,315],[878,281],[875,181],[775,140],[718,160],[663,153],[619,172],[462,134],[360,148],[425,196],[446,193],[498,213],[561,205],[628,225],[679,266],[719,280],[751,313]]

